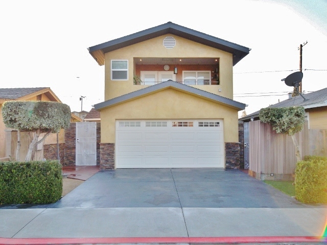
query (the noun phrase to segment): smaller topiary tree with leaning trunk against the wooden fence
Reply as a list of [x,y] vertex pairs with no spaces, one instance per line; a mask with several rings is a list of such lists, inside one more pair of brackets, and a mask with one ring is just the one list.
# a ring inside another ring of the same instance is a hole
[[297,161],[301,161],[300,146],[294,134],[303,129],[305,123],[305,108],[301,106],[263,108],[259,112],[259,118],[262,122],[270,124],[272,130],[275,130],[277,134],[288,134],[292,137],[296,159]]

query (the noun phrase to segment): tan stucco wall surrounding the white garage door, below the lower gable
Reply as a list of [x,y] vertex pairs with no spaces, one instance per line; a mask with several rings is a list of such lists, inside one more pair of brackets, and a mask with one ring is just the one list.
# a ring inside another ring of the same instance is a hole
[[223,119],[224,142],[238,142],[238,111],[166,89],[101,110],[101,142],[115,143],[116,119]]

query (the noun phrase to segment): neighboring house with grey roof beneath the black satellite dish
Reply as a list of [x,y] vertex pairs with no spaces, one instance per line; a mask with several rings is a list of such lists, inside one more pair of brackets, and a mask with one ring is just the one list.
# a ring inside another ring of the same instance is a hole
[[[307,101],[300,95],[295,97],[290,96],[288,100],[268,106],[268,108],[303,106],[306,111],[306,120],[308,121],[309,129],[327,129],[327,88],[303,94],[303,97]],[[259,120],[259,112],[253,112],[239,120],[244,122],[250,121],[251,118],[253,120]]]

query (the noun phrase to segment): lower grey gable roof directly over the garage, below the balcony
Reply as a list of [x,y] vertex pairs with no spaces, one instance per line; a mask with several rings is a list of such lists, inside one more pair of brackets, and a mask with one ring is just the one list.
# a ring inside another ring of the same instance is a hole
[[217,94],[214,93],[209,93],[207,91],[198,89],[198,88],[194,88],[185,84],[181,84],[178,82],[174,82],[172,80],[168,80],[166,82],[162,82],[156,85],[152,85],[143,89],[139,89],[136,90],[134,92],[131,93],[127,93],[124,94],[122,96],[119,97],[115,97],[111,100],[108,101],[104,101],[101,102],[99,104],[94,105],[96,110],[103,110],[105,108],[111,107],[111,106],[115,106],[115,105],[119,105],[119,104],[123,104],[125,102],[131,101],[131,100],[135,100],[138,97],[142,97],[144,95],[150,95],[152,93],[155,92],[159,92],[161,90],[165,90],[168,88],[173,88],[176,89],[178,91],[182,91],[185,93],[189,93],[191,95],[198,95],[200,97],[202,97],[203,99],[207,99],[209,101],[213,101],[222,105],[225,105],[227,107],[231,107],[233,109],[237,109],[237,110],[244,110],[245,109],[245,104],[237,102],[237,101],[233,101],[230,99],[227,99],[225,97],[219,96]]

